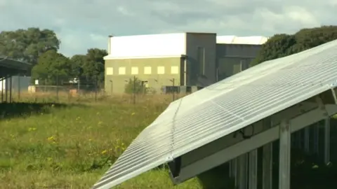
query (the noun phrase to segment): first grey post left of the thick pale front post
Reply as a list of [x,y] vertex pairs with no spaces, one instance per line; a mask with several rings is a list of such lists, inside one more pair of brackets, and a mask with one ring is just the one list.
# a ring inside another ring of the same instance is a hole
[[[263,120],[263,128],[267,130],[270,127],[272,127],[271,119],[265,118]],[[265,144],[262,150],[262,188],[272,189],[272,143]]]

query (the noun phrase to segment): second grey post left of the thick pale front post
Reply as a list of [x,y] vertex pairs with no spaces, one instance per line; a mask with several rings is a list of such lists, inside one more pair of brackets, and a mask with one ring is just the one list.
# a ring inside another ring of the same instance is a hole
[[258,188],[258,149],[249,152],[249,189]]

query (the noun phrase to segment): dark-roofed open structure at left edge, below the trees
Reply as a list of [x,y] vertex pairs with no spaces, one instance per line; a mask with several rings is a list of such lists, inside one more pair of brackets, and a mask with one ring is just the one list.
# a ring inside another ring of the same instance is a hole
[[29,76],[31,68],[32,64],[0,56],[1,102],[11,102],[12,76]]

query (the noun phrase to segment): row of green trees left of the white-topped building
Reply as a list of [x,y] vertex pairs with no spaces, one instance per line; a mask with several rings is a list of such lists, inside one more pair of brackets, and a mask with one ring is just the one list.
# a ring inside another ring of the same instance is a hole
[[29,27],[0,33],[0,55],[31,63],[32,80],[56,85],[59,78],[79,78],[86,83],[103,84],[106,50],[90,48],[84,55],[66,57],[59,52],[60,44],[51,29]]

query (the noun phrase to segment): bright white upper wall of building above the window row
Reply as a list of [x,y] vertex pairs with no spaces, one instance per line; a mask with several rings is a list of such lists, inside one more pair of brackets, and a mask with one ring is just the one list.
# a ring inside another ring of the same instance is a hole
[[170,57],[186,54],[186,34],[113,36],[105,59],[122,57]]

